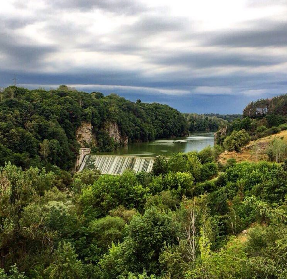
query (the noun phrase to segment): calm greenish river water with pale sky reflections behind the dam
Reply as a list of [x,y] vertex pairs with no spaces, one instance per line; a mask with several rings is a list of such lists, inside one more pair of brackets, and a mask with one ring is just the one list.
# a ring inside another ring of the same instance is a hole
[[200,151],[208,145],[214,145],[214,133],[190,134],[188,137],[153,140],[143,143],[130,143],[105,155],[129,155],[155,157],[158,155],[170,156],[173,153]]

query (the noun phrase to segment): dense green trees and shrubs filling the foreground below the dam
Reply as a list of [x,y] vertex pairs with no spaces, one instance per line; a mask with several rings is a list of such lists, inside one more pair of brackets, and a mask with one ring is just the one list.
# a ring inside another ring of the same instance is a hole
[[286,278],[286,165],[221,167],[219,152],[158,157],[153,174],[85,170],[64,184],[2,167],[0,278]]

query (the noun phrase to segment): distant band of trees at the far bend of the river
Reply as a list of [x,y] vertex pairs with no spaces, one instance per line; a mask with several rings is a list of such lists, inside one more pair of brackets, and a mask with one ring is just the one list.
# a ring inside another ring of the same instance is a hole
[[227,120],[216,115],[186,113],[184,116],[190,132],[214,132],[228,123]]

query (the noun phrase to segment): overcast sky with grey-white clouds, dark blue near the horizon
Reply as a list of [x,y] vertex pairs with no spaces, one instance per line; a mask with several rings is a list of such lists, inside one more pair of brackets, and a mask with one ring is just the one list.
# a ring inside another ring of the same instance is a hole
[[287,93],[287,0],[1,0],[0,86],[242,113]]

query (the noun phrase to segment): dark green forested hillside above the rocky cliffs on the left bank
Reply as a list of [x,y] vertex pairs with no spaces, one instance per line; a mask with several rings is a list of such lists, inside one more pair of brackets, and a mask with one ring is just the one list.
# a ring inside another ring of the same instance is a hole
[[116,94],[78,92],[67,86],[57,90],[28,90],[10,86],[0,91],[0,166],[11,161],[29,168],[73,168],[79,144],[76,130],[83,122],[93,127],[93,151],[109,151],[119,142],[105,130],[116,123],[129,142],[182,136],[187,123],[175,109],[158,103],[125,100]]

